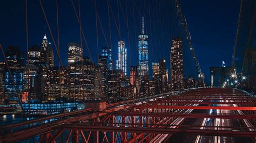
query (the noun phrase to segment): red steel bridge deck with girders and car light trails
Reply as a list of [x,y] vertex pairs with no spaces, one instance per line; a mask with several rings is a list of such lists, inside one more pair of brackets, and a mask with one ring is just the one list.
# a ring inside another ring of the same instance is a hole
[[[228,142],[256,138],[255,98],[237,89],[171,92],[1,127],[0,142]],[[80,134],[80,135],[79,135]],[[93,136],[93,137],[91,137]]]

